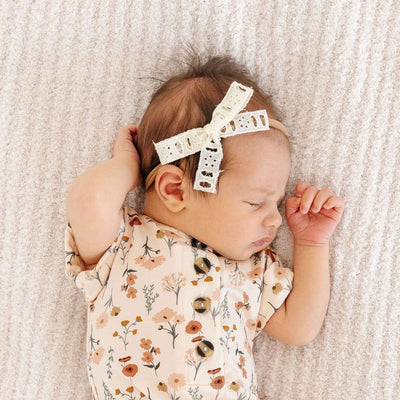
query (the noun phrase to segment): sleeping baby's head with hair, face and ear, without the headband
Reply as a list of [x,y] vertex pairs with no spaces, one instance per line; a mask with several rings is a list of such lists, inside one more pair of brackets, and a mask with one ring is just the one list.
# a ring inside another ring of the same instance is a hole
[[[217,57],[192,64],[156,91],[142,118],[137,146],[145,180],[160,164],[153,143],[209,123],[234,81],[254,90],[245,111],[266,110],[269,118],[277,118],[268,96],[231,59]],[[223,172],[217,194],[193,189],[199,164],[196,153],[157,173],[159,177],[167,171],[170,181],[158,178],[156,190],[154,184],[148,188],[166,206],[157,207],[164,215],[151,216],[228,258],[246,259],[269,245],[281,224],[277,205],[289,176],[289,142],[282,131],[272,128],[228,137],[221,143]],[[171,184],[162,186],[165,182]],[[145,212],[149,214],[146,206]]]

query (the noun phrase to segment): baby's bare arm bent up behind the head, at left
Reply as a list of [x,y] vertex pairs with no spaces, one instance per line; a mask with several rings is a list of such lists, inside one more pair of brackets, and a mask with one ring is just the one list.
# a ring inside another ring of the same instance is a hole
[[96,264],[118,234],[126,194],[141,182],[139,154],[132,142],[137,127],[122,128],[113,157],[85,171],[71,185],[67,217],[81,258]]

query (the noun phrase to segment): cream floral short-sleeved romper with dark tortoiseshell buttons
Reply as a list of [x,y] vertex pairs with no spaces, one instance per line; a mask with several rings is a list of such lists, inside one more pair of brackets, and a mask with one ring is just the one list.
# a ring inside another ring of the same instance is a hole
[[253,341],[292,288],[273,250],[229,260],[131,207],[93,269],[70,227],[65,246],[93,399],[257,399]]

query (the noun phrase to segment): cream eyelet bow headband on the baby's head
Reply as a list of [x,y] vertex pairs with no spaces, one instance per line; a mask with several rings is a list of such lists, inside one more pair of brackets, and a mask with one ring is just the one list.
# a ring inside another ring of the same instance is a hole
[[242,133],[278,129],[288,136],[286,128],[279,121],[269,119],[266,110],[242,111],[253,89],[237,82],[232,82],[225,97],[215,108],[211,122],[202,128],[190,129],[161,142],[154,143],[161,164],[147,176],[146,190],[154,183],[161,165],[185,158],[200,152],[199,165],[193,188],[208,193],[216,193],[223,157],[221,139]]

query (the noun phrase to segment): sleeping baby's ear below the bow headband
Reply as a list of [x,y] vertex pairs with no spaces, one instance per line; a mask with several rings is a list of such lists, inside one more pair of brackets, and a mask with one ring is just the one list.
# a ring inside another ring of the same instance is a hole
[[173,213],[185,208],[183,180],[183,171],[171,164],[163,165],[156,175],[154,182],[156,193],[165,207]]

